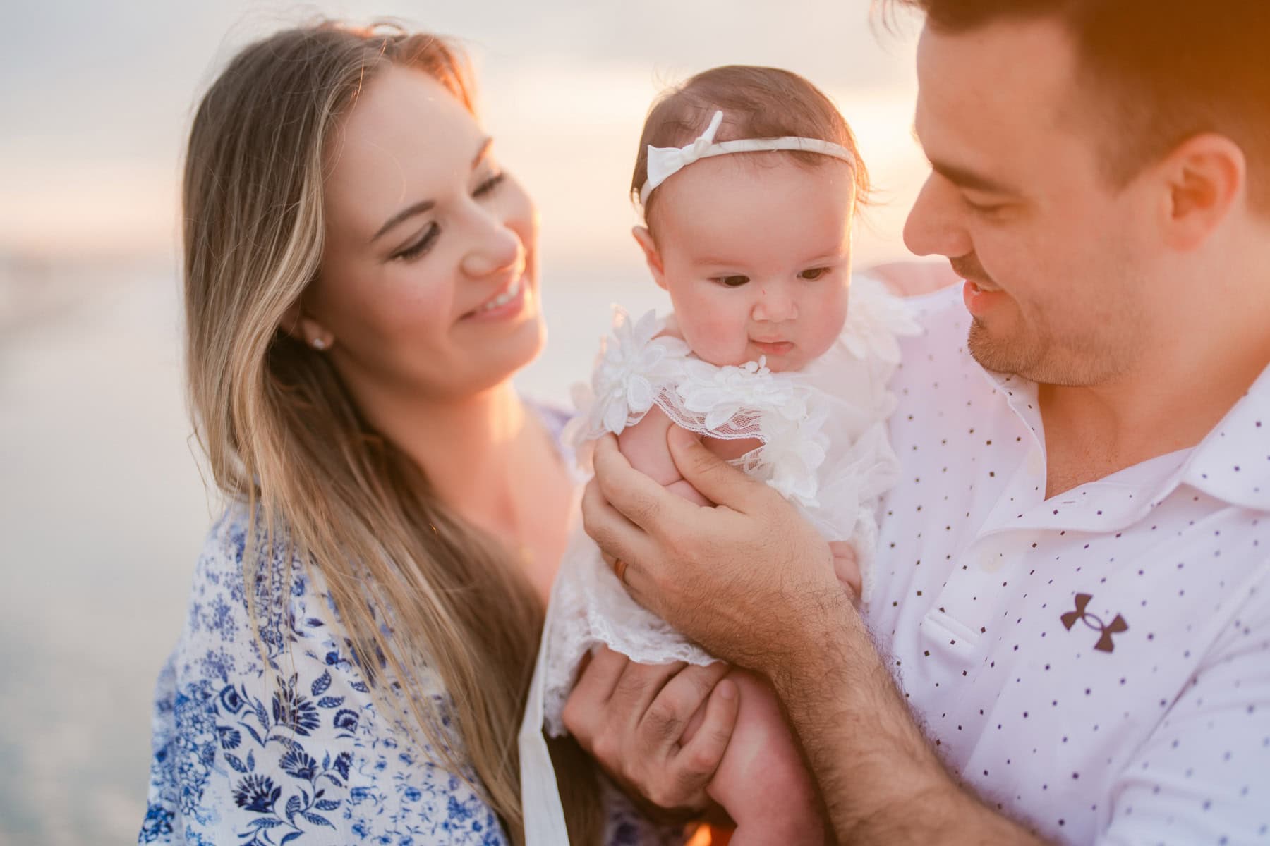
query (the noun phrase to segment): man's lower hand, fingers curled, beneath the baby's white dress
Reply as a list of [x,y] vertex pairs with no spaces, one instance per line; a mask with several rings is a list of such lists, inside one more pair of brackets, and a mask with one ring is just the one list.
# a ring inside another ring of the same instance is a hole
[[724,663],[639,665],[606,648],[583,668],[564,724],[627,795],[700,817],[737,723],[740,700],[720,681],[726,672]]

